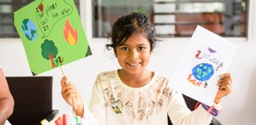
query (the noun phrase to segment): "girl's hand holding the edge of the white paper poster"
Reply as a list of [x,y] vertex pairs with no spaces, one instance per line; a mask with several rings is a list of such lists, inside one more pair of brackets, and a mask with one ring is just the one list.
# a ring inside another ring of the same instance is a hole
[[232,78],[230,73],[225,73],[220,75],[220,80],[218,80],[218,92],[215,96],[214,103],[218,104],[222,101],[222,98],[229,95],[232,92]]

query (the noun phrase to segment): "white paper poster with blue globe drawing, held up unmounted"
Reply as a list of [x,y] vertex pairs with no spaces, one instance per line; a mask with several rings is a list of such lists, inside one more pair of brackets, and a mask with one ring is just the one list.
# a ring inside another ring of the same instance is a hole
[[198,25],[171,76],[171,88],[211,106],[219,75],[227,71],[237,49],[238,45]]

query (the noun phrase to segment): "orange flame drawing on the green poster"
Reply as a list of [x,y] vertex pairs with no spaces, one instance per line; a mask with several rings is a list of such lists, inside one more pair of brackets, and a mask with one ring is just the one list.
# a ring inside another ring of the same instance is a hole
[[65,28],[63,31],[64,31],[64,37],[65,37],[66,41],[70,45],[75,45],[78,41],[78,33],[77,33],[77,29],[74,29],[70,25],[69,19],[66,20]]

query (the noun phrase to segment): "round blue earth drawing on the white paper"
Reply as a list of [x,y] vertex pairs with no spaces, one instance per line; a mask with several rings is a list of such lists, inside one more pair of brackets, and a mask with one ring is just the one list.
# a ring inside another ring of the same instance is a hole
[[210,77],[214,75],[214,68],[211,64],[207,64],[207,63],[198,64],[192,69],[192,75],[197,80],[206,81],[206,80],[209,80]]

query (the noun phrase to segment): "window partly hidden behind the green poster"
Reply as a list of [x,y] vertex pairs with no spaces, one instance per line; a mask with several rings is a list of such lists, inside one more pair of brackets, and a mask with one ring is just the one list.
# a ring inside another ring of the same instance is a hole
[[[0,38],[1,37],[18,37],[18,33],[14,27],[11,14],[30,4],[34,0],[1,0],[0,1]],[[74,0],[79,10],[79,0]],[[79,12],[79,11],[78,11]]]

